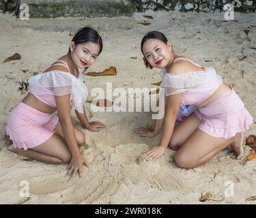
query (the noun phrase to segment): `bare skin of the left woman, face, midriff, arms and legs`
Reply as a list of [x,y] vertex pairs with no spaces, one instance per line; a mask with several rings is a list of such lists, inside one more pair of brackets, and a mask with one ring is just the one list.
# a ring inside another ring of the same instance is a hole
[[[76,72],[79,72],[78,67],[83,69],[94,64],[99,53],[98,44],[92,42],[76,45],[74,42],[71,42],[69,48],[70,53],[64,55],[59,60],[65,61],[68,64],[70,72],[68,72],[68,69],[62,65],[51,66],[46,69],[45,72],[61,70],[67,74],[71,73],[74,75],[74,69],[76,69]],[[86,65],[82,64],[81,61],[86,63]],[[60,62],[56,61],[55,63]],[[70,116],[70,94],[55,96],[56,108],[44,104],[44,102],[41,102],[31,93],[28,93],[22,102],[47,114],[53,114],[57,111],[59,122],[54,129],[56,133],[46,140],[46,142],[33,149],[28,149],[27,151],[23,149],[15,149],[14,147],[10,150],[44,163],[69,163],[68,176],[72,177],[77,172],[79,173],[79,176],[81,176],[83,164],[89,166],[89,163],[79,149],[85,144],[85,134],[72,124]],[[101,128],[105,127],[101,122],[89,122],[85,113],[85,108],[83,108],[83,111],[84,113],[80,113],[75,110],[76,116],[85,129],[88,129],[89,131],[99,131]]]

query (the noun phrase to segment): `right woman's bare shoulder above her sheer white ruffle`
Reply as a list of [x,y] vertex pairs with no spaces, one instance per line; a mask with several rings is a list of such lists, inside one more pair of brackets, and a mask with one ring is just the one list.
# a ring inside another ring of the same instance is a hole
[[185,60],[180,60],[171,65],[168,72],[172,74],[184,74],[186,72],[197,72],[203,70],[201,67],[194,65]]

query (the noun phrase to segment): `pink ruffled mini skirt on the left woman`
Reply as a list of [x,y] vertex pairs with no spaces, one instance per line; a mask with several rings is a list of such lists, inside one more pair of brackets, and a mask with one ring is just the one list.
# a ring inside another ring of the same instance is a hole
[[19,102],[8,116],[6,134],[15,148],[32,149],[55,134],[53,129],[58,121],[55,114],[46,114]]

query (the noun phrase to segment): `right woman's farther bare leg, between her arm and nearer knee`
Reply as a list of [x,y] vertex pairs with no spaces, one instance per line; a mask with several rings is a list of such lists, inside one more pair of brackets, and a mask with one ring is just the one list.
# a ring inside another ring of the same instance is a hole
[[197,130],[198,125],[201,120],[195,115],[195,113],[190,114],[184,121],[179,123],[177,127],[173,130],[173,135],[169,142],[169,147],[175,151],[180,149],[180,146],[186,142],[189,136]]

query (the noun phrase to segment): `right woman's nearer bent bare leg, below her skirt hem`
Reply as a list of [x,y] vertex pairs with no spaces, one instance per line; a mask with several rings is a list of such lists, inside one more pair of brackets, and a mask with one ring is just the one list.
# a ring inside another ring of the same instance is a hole
[[221,152],[234,138],[217,138],[197,129],[175,154],[175,161],[181,168],[195,168]]

